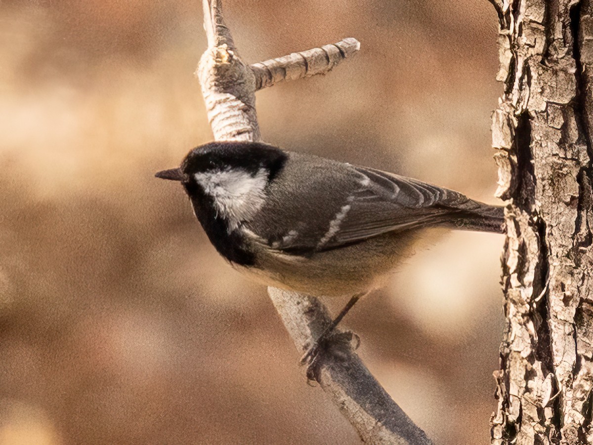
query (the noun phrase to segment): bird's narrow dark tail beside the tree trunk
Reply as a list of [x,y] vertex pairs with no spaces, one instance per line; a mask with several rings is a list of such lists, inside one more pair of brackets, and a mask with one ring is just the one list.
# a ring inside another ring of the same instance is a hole
[[477,232],[505,233],[504,207],[471,201],[473,208],[449,215],[448,225],[457,230],[476,230]]

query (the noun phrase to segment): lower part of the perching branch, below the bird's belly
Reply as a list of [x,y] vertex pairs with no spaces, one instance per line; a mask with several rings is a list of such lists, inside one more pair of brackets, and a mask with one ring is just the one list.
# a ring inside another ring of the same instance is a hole
[[[306,351],[331,323],[326,307],[315,297],[268,288],[268,293],[299,351]],[[352,332],[319,358],[315,380],[356,428],[364,443],[431,444],[391,399],[352,347]]]

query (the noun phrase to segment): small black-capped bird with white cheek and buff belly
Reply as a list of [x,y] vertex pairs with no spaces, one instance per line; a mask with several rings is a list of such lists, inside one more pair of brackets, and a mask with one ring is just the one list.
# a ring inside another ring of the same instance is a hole
[[321,337],[413,253],[420,229],[503,232],[502,207],[260,142],[207,143],[156,177],[181,182],[235,269],[267,286],[352,297]]

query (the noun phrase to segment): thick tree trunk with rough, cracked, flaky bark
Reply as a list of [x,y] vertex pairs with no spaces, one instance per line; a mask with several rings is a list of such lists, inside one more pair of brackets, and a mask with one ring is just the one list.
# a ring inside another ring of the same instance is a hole
[[490,1],[505,88],[492,139],[508,200],[492,443],[593,443],[591,3]]

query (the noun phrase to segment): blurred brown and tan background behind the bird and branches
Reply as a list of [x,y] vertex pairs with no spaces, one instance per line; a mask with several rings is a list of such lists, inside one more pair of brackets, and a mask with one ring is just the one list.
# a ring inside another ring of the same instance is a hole
[[[266,142],[495,203],[496,15],[471,0],[226,0],[248,62],[333,43],[258,95]],[[0,4],[0,444],[358,443],[263,287],[176,184],[211,139],[198,0]],[[487,444],[503,238],[431,236],[345,326],[435,444]],[[345,302],[328,302],[338,310]]]

